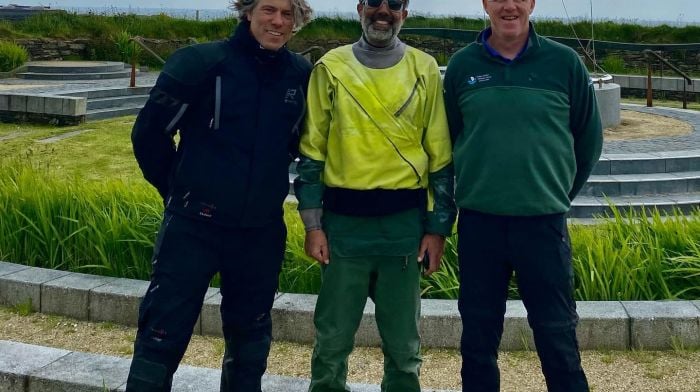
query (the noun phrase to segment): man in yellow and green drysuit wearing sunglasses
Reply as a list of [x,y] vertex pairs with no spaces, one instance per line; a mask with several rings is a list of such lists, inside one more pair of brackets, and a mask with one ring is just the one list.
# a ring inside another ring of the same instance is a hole
[[382,391],[420,391],[420,268],[440,266],[456,209],[437,63],[397,34],[408,0],[362,0],[362,37],[312,71],[296,180],[305,250],[322,264],[310,392],[346,391],[367,297]]

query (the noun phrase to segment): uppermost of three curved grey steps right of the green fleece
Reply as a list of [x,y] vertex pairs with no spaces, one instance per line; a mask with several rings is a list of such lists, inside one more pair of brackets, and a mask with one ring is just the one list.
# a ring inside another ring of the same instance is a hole
[[651,174],[700,171],[700,150],[644,154],[605,154],[594,175]]

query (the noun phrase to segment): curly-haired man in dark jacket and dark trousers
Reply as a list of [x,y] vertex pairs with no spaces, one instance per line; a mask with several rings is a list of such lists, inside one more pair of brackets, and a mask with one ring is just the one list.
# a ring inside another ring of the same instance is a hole
[[[286,48],[305,0],[237,0],[227,40],[175,52],[134,124],[163,197],[127,391],[170,391],[212,277],[221,278],[221,391],[260,392],[284,258],[283,202],[311,64]],[[175,136],[179,133],[179,142]]]

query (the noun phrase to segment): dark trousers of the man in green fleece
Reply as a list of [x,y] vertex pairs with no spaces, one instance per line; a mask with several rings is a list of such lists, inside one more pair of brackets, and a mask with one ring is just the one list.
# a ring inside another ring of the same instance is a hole
[[461,210],[457,230],[462,390],[500,388],[498,346],[515,271],[547,389],[588,391],[576,340],[578,315],[564,214],[515,217]]

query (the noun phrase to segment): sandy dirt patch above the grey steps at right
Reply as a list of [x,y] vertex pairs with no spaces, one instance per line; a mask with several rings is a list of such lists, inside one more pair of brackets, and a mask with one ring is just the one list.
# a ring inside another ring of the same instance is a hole
[[605,140],[644,140],[683,136],[693,132],[693,127],[689,123],[657,114],[622,110],[620,118],[622,120],[620,125],[604,130]]

